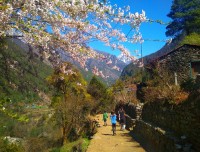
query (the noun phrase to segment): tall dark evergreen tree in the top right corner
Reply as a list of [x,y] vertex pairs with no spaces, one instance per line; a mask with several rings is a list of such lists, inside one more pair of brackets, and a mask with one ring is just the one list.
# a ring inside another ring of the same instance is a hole
[[176,37],[182,33],[186,35],[192,32],[200,33],[199,0],[174,0],[167,16],[172,19],[166,27],[167,36]]

